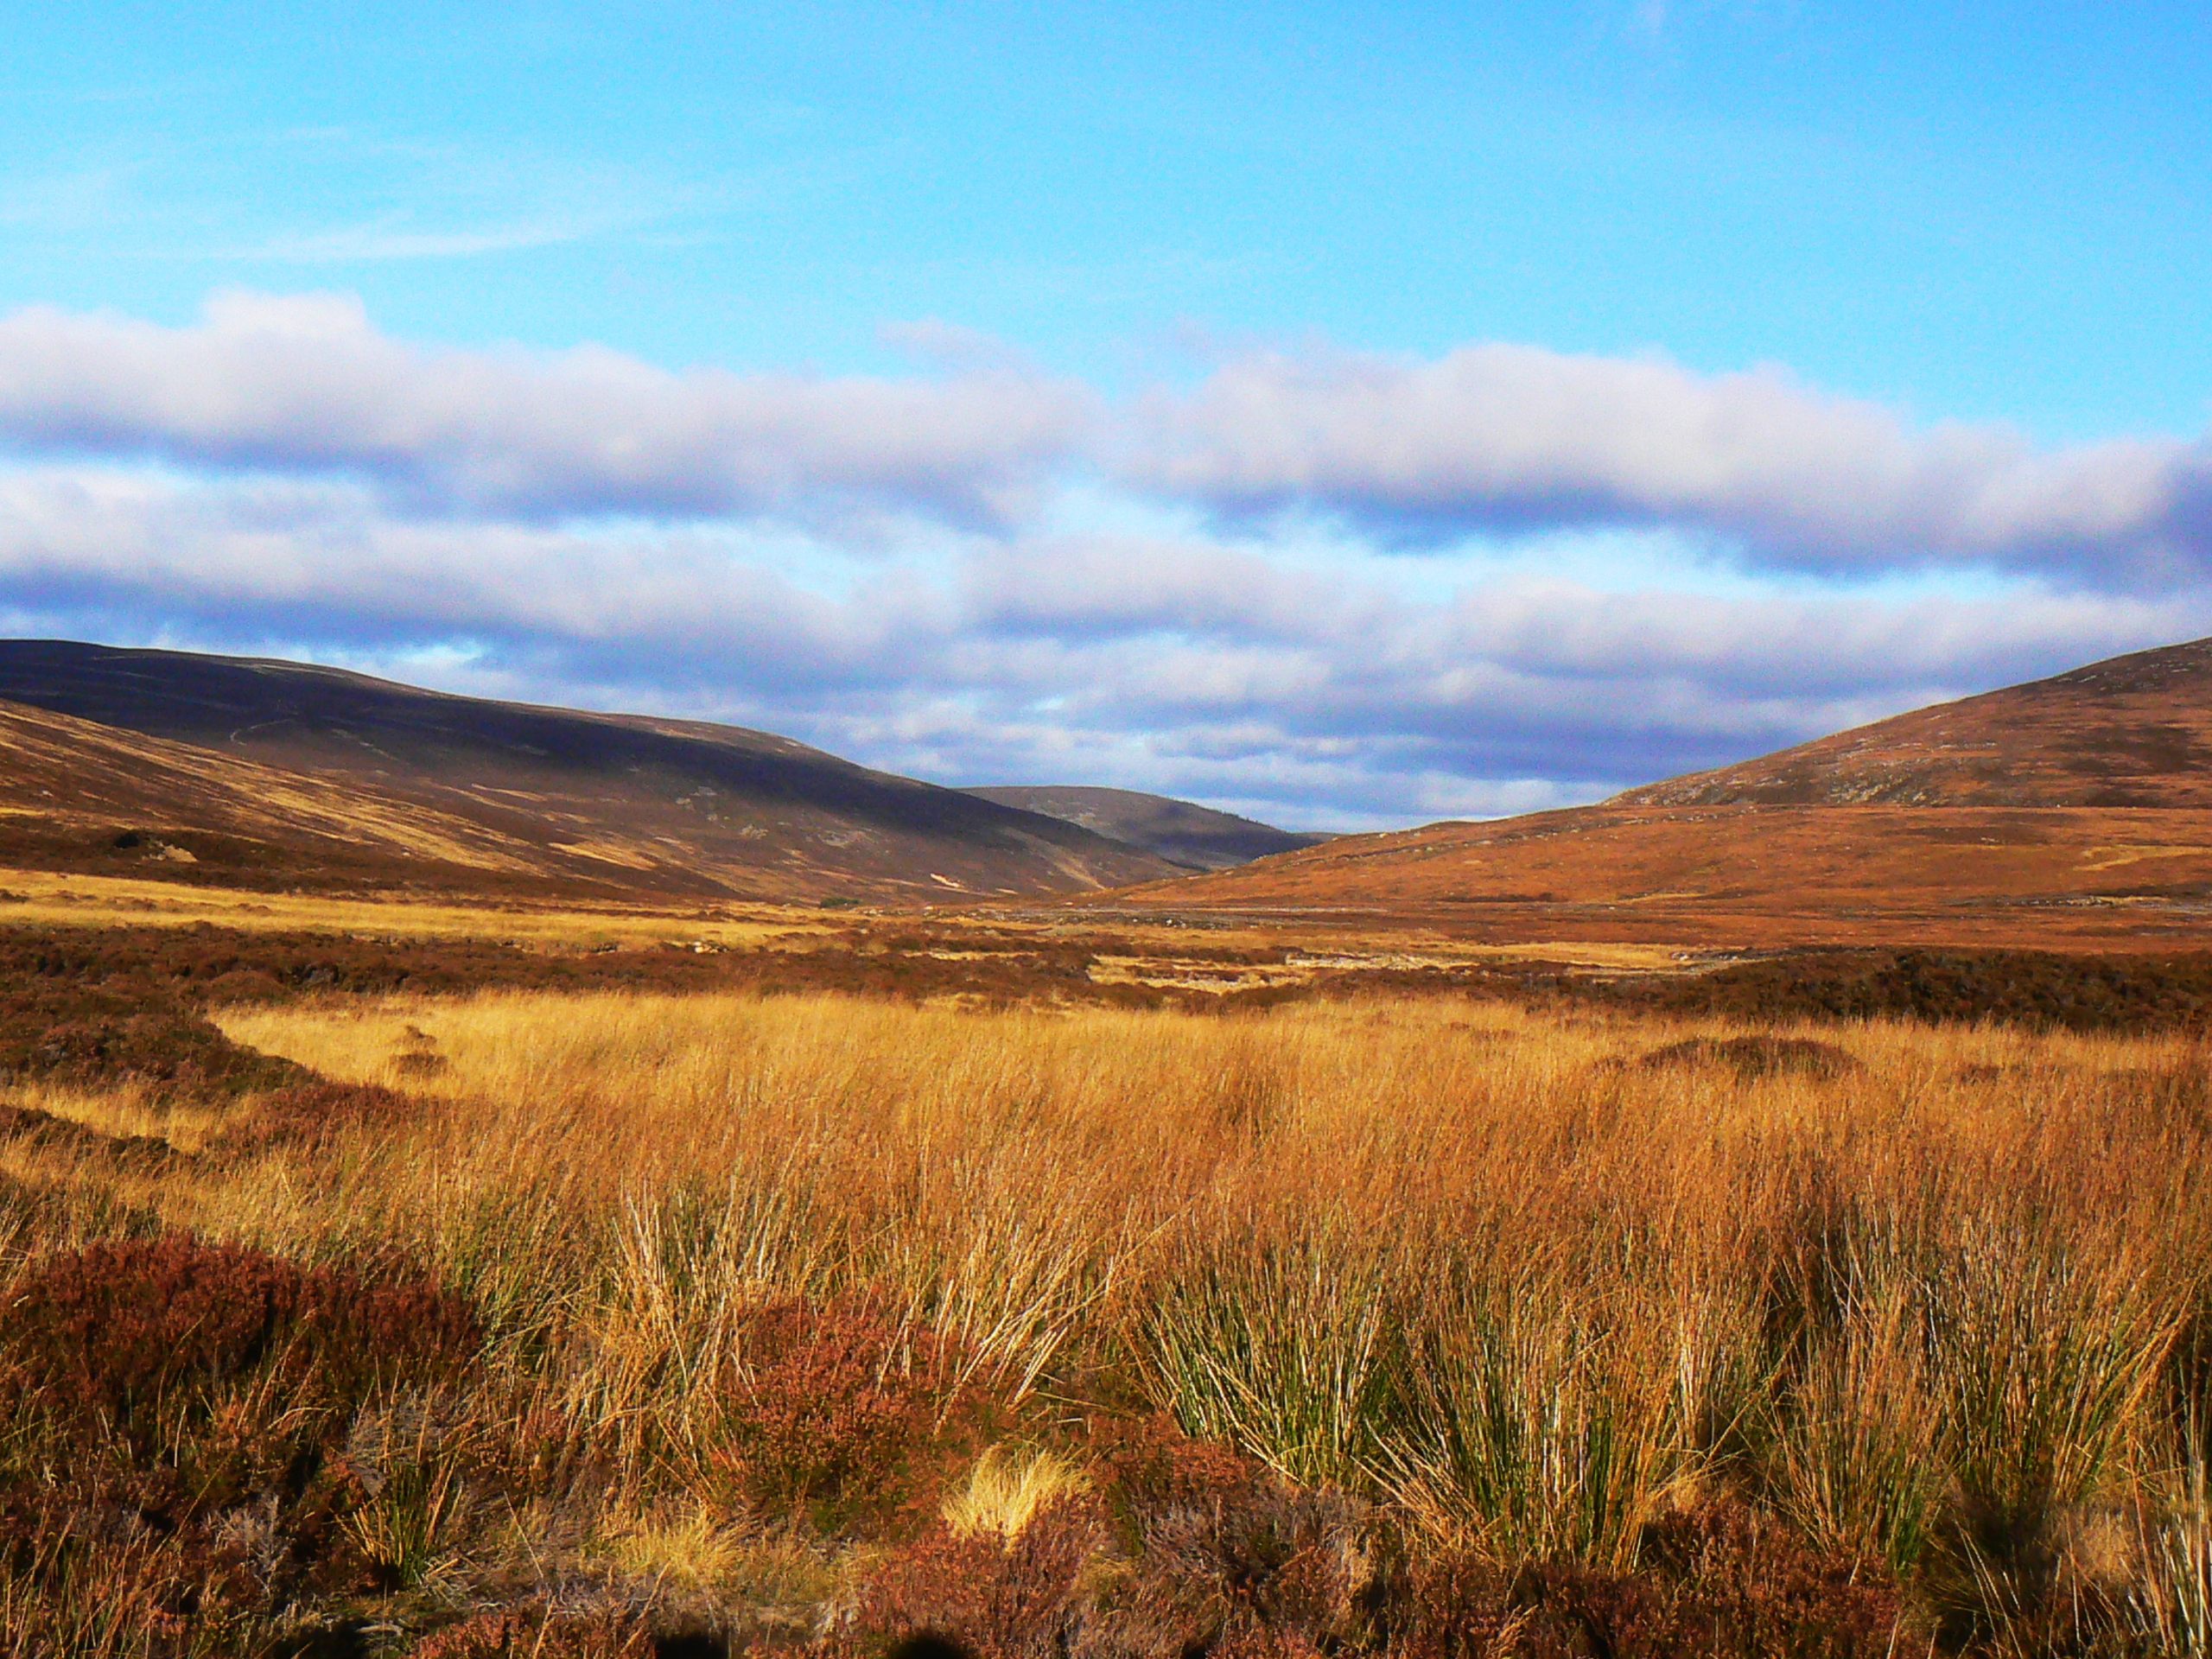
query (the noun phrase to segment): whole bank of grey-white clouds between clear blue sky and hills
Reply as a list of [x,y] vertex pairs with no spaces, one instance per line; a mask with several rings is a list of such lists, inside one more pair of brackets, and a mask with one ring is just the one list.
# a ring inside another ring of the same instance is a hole
[[909,334],[949,367],[431,349],[323,296],[18,312],[0,622],[1301,827],[1562,805],[2212,633],[2203,440],[1504,345],[1113,398]]

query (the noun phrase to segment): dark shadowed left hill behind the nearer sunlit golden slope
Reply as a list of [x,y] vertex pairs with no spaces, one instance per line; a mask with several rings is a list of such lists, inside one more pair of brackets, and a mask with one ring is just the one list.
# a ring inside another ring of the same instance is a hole
[[[325,792],[405,803],[425,821],[465,825],[456,834],[498,849],[509,874],[555,887],[922,898],[1066,894],[1175,874],[1077,825],[734,726],[49,639],[0,641],[0,699],[316,779]],[[261,783],[239,776],[234,794]],[[186,792],[168,805],[146,801],[139,816],[148,830],[184,830],[201,810],[204,799]],[[270,834],[281,843],[288,832]],[[438,869],[425,874],[453,880],[453,860],[431,863]]]

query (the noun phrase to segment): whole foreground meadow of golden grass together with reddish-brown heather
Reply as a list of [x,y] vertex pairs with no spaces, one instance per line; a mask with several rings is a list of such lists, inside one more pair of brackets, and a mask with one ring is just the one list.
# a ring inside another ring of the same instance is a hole
[[2192,1037],[212,1020],[15,1093],[0,1655],[2212,1650]]

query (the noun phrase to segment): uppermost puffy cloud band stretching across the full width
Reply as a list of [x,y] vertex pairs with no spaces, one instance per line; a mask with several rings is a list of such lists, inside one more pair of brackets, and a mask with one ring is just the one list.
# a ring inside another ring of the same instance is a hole
[[1632,524],[1829,573],[2181,586],[2212,566],[2201,438],[2037,449],[2004,427],[1913,427],[1781,369],[1498,343],[1433,361],[1250,352],[1188,394],[1115,407],[945,323],[887,341],[938,372],[431,349],[330,294],[223,294],[190,327],[33,307],[0,319],[0,445],[347,476],[478,518],[1006,531],[1104,467],[1223,518],[1303,509],[1391,542]]

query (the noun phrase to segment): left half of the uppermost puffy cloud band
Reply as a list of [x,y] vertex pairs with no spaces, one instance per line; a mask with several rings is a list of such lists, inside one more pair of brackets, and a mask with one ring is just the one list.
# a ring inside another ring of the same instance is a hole
[[361,303],[226,294],[192,327],[0,319],[0,442],[347,473],[509,515],[1015,515],[1091,400],[1013,365],[945,378],[672,374],[602,347],[427,349]]

